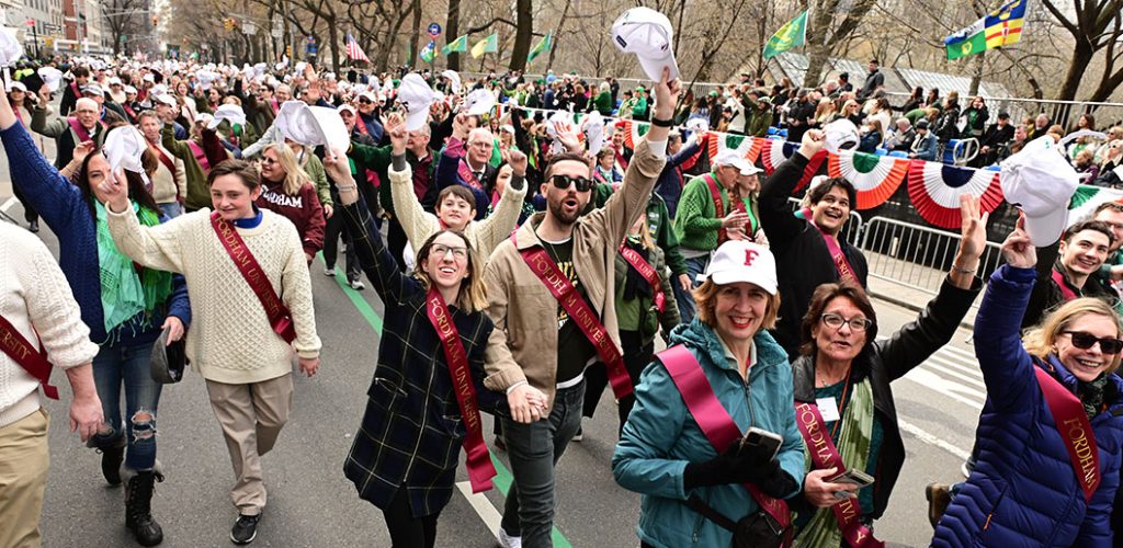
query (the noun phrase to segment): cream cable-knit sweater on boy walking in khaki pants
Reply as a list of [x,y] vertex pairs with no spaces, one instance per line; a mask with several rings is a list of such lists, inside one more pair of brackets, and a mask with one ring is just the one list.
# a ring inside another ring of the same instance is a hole
[[[201,209],[144,227],[133,208],[126,208],[109,212],[109,231],[133,261],[186,278],[192,314],[188,357],[203,378],[247,384],[285,375],[292,371],[292,347],[273,332],[262,302],[211,227],[210,214],[210,209]],[[292,312],[296,354],[318,357],[312,281],[296,227],[262,210],[261,225],[237,230]]]

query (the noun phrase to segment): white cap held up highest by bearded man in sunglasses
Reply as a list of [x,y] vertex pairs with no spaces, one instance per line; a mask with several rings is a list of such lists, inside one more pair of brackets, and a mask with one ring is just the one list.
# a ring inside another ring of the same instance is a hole
[[651,8],[632,8],[612,24],[612,42],[623,53],[639,58],[647,77],[658,82],[663,68],[670,68],[670,79],[678,77],[675,63],[674,30],[667,16]]

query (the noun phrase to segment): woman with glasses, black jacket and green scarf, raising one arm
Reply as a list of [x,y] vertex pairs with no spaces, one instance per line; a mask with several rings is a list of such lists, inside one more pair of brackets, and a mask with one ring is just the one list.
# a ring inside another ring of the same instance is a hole
[[[857,546],[882,517],[905,460],[889,383],[919,366],[955,335],[978,295],[974,273],[986,249],[979,201],[960,201],[959,252],[940,293],[920,317],[883,340],[858,285],[820,285],[803,317],[801,356],[792,363],[795,414],[811,472],[791,501],[798,546]],[[850,483],[840,474],[866,475]],[[847,542],[842,542],[846,539]]]

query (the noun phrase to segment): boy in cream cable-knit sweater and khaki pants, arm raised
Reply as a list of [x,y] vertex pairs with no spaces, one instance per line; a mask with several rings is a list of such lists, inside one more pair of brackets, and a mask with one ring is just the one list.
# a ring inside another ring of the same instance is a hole
[[101,183],[109,231],[121,253],[149,268],[182,273],[191,292],[188,357],[207,380],[207,392],[222,433],[237,483],[230,492],[238,520],[230,540],[244,545],[257,535],[265,508],[261,456],[273,448],[289,420],[292,357],[312,376],[320,365],[312,283],[296,227],[289,219],[254,207],[262,193],[257,171],[228,159],[207,177],[214,211],[253,254],[273,291],[291,311],[295,339],[290,346],[274,332],[253,287],[243,277],[201,209],[154,227],[144,227],[129,207],[124,177]]

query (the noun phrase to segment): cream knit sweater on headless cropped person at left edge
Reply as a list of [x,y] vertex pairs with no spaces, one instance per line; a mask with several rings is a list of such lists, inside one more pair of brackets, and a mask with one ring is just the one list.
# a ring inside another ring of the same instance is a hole
[[[38,331],[47,360],[55,367],[85,365],[98,355],[98,345],[90,342],[90,328],[82,323],[74,294],[47,246],[31,232],[3,221],[0,316],[33,346]],[[35,377],[0,351],[0,428],[39,409],[38,387]]]

